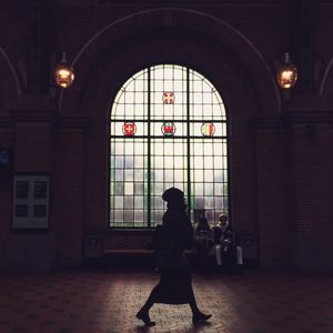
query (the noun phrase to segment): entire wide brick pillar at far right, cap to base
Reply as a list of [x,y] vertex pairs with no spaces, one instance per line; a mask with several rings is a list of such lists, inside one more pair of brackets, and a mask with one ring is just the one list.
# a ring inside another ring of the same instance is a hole
[[292,193],[292,264],[296,271],[332,272],[332,113],[292,111],[285,121]]

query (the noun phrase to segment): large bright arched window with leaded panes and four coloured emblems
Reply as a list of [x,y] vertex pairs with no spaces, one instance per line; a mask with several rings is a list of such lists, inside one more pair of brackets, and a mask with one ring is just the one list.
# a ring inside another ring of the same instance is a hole
[[168,188],[184,191],[192,222],[228,213],[226,115],[216,89],[186,67],[130,78],[110,114],[110,226],[161,223]]

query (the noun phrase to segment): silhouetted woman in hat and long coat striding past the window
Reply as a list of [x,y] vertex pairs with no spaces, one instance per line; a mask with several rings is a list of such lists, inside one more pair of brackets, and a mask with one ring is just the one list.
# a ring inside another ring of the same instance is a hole
[[193,323],[206,321],[211,314],[203,314],[198,309],[190,268],[183,253],[186,248],[193,246],[193,228],[186,215],[184,193],[171,188],[163,193],[162,199],[168,202],[168,210],[157,240],[160,282],[151,291],[137,317],[145,325],[154,325],[149,316],[149,310],[154,303],[189,303]]

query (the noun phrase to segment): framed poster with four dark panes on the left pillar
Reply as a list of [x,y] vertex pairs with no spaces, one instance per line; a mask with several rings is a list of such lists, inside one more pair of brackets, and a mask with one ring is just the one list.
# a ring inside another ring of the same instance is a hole
[[13,230],[49,228],[50,176],[16,174],[13,178]]

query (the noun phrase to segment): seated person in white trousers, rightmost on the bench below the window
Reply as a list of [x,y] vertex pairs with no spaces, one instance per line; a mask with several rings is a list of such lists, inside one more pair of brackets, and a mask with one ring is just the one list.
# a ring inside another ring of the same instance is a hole
[[214,228],[214,250],[216,263],[232,266],[243,264],[242,248],[235,245],[234,233],[232,226],[228,222],[225,214],[219,215],[219,224]]

